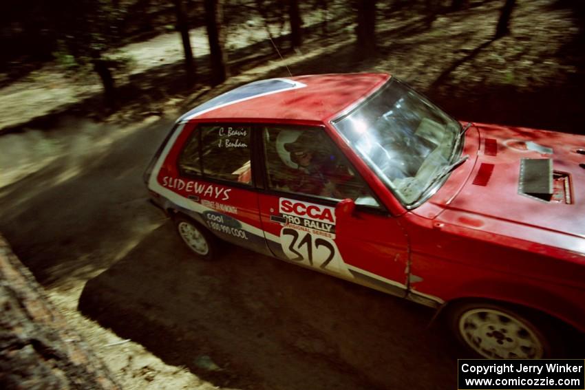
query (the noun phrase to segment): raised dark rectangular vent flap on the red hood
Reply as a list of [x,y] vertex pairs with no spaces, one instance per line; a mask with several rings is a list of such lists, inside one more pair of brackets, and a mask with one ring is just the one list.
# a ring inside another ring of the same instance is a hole
[[549,202],[553,197],[553,160],[550,158],[520,160],[518,193]]

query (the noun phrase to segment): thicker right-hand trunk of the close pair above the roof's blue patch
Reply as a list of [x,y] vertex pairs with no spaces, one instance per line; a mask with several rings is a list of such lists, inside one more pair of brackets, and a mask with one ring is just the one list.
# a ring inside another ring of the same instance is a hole
[[225,34],[222,28],[222,3],[222,0],[204,0],[205,23],[211,58],[211,85],[223,83],[228,75],[227,58],[224,50]]

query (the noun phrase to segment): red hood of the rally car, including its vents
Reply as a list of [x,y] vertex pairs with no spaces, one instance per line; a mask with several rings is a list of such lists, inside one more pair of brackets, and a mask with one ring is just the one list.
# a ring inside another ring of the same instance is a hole
[[435,205],[437,220],[585,254],[585,136],[476,128],[473,169],[456,196]]

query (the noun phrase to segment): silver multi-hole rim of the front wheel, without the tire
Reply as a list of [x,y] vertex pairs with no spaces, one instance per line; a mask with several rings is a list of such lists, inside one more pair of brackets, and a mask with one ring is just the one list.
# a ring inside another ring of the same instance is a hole
[[474,309],[459,318],[459,332],[478,354],[491,359],[540,359],[542,338],[524,321],[494,309]]

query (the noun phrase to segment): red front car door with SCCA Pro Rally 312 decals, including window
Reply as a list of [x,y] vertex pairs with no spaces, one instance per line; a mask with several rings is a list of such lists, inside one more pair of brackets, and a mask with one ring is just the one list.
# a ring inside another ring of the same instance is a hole
[[[323,127],[266,125],[260,218],[275,257],[404,296],[407,239]],[[341,199],[357,204],[339,219]]]

